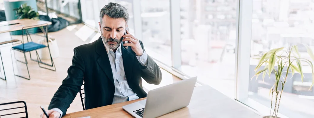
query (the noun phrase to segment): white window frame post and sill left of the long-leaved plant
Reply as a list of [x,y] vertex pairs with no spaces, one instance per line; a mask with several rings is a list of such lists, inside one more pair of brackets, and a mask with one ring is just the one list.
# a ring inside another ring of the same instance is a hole
[[[235,100],[256,110],[259,115],[267,116],[270,112],[269,106],[265,106],[248,97],[252,42],[252,10],[252,0],[237,0]],[[280,112],[278,116],[289,118]]]

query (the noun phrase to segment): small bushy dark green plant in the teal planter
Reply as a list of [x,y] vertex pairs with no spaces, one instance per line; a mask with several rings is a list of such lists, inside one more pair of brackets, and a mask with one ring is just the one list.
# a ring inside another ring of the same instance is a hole
[[30,6],[27,6],[26,3],[22,4],[19,8],[13,9],[13,11],[15,11],[17,19],[28,18],[39,20],[39,13],[34,11]]

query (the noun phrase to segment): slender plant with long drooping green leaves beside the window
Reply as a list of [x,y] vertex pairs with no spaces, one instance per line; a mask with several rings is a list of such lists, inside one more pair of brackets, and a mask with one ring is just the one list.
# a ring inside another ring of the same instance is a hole
[[[309,54],[311,59],[314,60],[314,54],[311,48],[307,45],[304,45],[304,46],[306,47],[307,53]],[[257,80],[257,77],[260,74],[262,74],[263,81],[264,81],[264,77],[266,74],[268,74],[269,77],[271,73],[275,75],[275,81],[273,83],[273,87],[271,87],[269,91],[269,95],[270,94],[272,95],[271,105],[270,105],[270,115],[264,116],[263,118],[277,118],[280,100],[281,100],[281,96],[284,90],[284,85],[287,79],[290,79],[290,78],[287,78],[288,73],[291,73],[292,75],[295,73],[299,73],[301,75],[300,79],[303,82],[304,75],[303,75],[303,70],[302,70],[302,63],[308,64],[308,66],[311,67],[311,72],[312,72],[312,84],[310,86],[310,89],[311,89],[314,84],[313,64],[310,60],[301,58],[297,45],[290,46],[289,48],[282,47],[282,48],[272,49],[272,50],[262,53],[262,56],[259,57],[259,62],[254,70],[255,75],[253,77],[256,76],[256,80]],[[265,65],[265,68],[259,70],[259,68],[263,64]],[[257,70],[259,71],[257,72]]]

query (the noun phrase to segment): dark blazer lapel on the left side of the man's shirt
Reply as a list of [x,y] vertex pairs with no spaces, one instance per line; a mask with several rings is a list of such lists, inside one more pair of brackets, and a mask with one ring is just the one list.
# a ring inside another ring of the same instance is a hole
[[101,37],[99,37],[97,40],[96,52],[97,54],[99,54],[97,63],[99,64],[100,68],[106,73],[109,80],[111,80],[111,82],[114,84],[110,61]]

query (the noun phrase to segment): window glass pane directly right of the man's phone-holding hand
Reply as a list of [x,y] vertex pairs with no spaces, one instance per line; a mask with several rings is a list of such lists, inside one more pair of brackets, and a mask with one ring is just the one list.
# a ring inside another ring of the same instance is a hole
[[169,0],[141,0],[142,35],[146,52],[171,66]]

